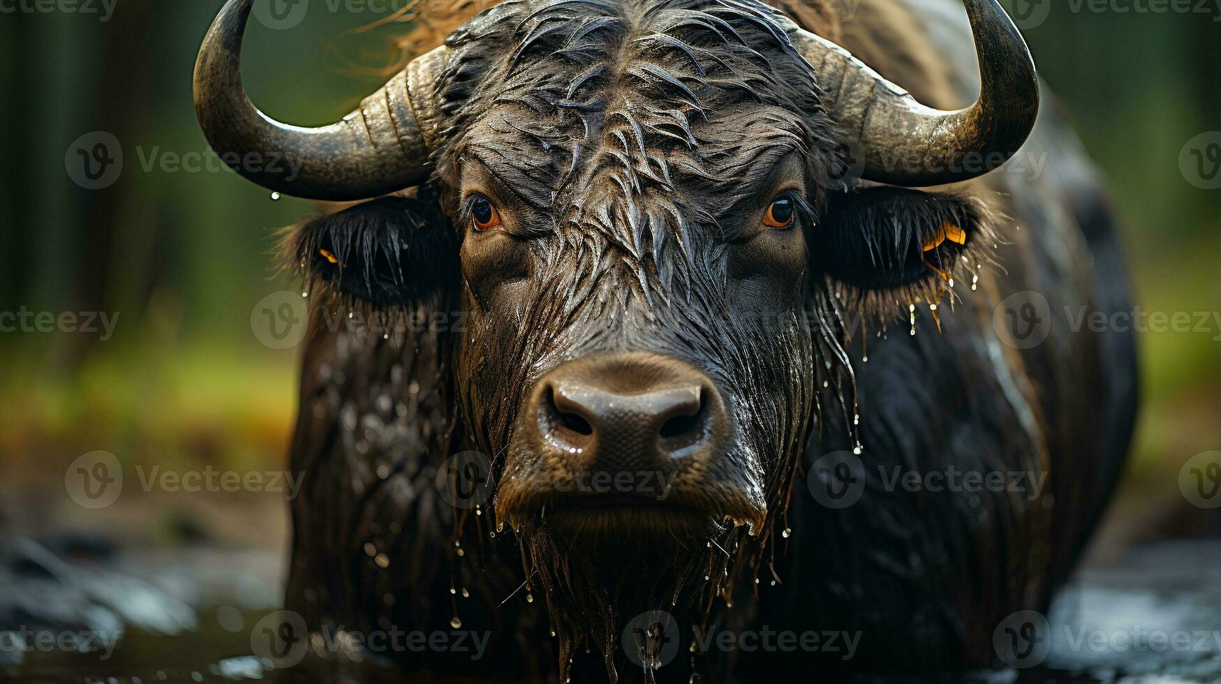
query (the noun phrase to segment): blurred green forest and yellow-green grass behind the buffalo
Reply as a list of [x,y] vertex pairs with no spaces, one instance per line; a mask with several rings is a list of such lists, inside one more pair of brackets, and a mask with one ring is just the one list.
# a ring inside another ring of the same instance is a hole
[[[274,270],[272,228],[317,208],[272,200],[223,170],[144,167],[208,150],[190,76],[221,5],[118,0],[105,22],[0,15],[0,311],[120,316],[107,341],[0,333],[0,463],[12,481],[61,481],[66,463],[98,448],[165,464],[282,463],[297,352],[261,344],[250,314],[293,287]],[[348,29],[383,18],[343,10],[311,11],[288,31],[252,22],[247,88],[281,120],[338,118],[383,82],[374,72],[393,59],[403,24]],[[1178,164],[1189,139],[1221,131],[1219,18],[1221,9],[1094,13],[1056,1],[1024,32],[1114,191],[1142,309],[1221,309],[1221,191],[1193,187]],[[125,155],[118,182],[101,191],[65,169],[70,145],[93,131],[114,133]],[[1128,480],[1138,498],[1176,497],[1182,462],[1221,447],[1219,333],[1140,336],[1145,403]]]

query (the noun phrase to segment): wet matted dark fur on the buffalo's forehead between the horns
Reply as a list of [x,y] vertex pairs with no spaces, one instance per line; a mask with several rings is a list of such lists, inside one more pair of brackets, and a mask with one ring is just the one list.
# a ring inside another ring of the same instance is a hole
[[690,224],[733,230],[788,154],[825,164],[814,75],[762,2],[510,1],[448,44],[438,169],[475,156],[637,258]]

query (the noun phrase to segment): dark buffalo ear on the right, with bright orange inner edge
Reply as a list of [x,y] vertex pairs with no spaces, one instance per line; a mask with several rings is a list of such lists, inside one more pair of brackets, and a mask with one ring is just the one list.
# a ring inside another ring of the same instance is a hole
[[963,254],[991,244],[991,224],[969,197],[889,186],[832,193],[810,239],[813,270],[862,293],[947,280]]

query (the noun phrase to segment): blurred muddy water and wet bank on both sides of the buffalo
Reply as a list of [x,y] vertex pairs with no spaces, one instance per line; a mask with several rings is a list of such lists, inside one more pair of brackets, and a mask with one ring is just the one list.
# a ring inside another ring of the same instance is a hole
[[[0,530],[0,682],[404,682],[400,673],[369,664],[339,668],[306,660],[283,672],[255,657],[255,624],[278,608],[283,592],[283,506],[274,498],[206,503],[210,508],[192,513],[203,525],[160,520],[156,513],[168,502],[129,511],[116,504],[106,512],[114,523],[90,534],[121,540],[122,550],[87,545],[78,550],[83,558],[63,548],[43,553],[44,545],[21,551],[29,539],[81,524],[79,512],[61,518],[22,507],[40,513]],[[167,539],[166,528],[188,531]],[[1211,533],[1192,541],[1103,545],[1128,550],[1078,572],[1045,617],[1039,642],[1046,649],[1026,663],[1031,667],[962,682],[1221,683],[1221,540]],[[60,634],[81,625],[121,629],[122,636],[93,652],[33,644],[13,649],[5,630],[31,623]]]

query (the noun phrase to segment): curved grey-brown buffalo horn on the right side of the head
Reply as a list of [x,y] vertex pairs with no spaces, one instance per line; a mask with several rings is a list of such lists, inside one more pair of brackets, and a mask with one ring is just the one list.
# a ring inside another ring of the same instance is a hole
[[996,0],[965,0],[979,56],[979,99],[967,109],[924,106],[847,50],[807,31],[794,44],[817,70],[828,111],[856,133],[862,176],[896,186],[968,181],[1017,153],[1039,111],[1031,51]]

